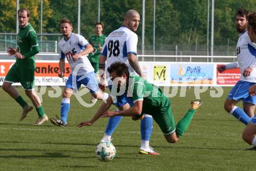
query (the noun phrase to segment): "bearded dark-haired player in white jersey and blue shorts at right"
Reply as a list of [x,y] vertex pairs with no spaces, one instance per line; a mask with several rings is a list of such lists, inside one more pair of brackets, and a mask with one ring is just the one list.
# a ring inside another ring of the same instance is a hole
[[[255,43],[250,41],[247,34],[247,14],[248,11],[244,9],[239,9],[236,14],[236,29],[240,33],[236,47],[237,62],[221,65],[217,68],[219,72],[223,72],[240,67],[241,78],[229,92],[224,108],[245,125],[254,116],[256,105],[256,96],[250,96],[248,94],[248,88],[256,82],[256,59],[250,53],[250,49],[252,46],[255,46]],[[236,103],[240,100],[243,101],[243,110],[236,106]]]

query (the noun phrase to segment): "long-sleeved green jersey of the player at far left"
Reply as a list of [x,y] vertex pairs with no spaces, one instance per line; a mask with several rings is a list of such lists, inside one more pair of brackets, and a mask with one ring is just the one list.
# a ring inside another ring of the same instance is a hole
[[17,67],[34,68],[34,55],[39,52],[37,42],[37,34],[31,24],[20,28],[17,34],[17,49],[25,57],[24,59],[16,59]]

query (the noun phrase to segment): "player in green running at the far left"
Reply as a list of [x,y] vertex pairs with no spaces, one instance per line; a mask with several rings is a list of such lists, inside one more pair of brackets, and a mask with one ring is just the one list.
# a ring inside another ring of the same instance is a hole
[[6,75],[2,88],[22,106],[22,117],[20,117],[20,121],[22,121],[33,107],[20,96],[15,88],[13,88],[12,83],[20,82],[27,96],[34,104],[35,110],[37,110],[38,118],[35,125],[41,125],[45,121],[48,121],[48,117],[45,115],[41,101],[34,91],[34,55],[39,52],[37,34],[29,23],[29,10],[22,8],[19,9],[17,13],[20,25],[20,30],[17,34],[17,49],[9,48],[8,50],[9,55],[15,55],[16,62]]

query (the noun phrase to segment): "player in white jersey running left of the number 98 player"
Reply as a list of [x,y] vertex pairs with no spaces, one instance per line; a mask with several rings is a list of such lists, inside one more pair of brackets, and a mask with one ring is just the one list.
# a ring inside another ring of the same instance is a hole
[[86,54],[93,51],[93,46],[81,35],[72,32],[72,23],[70,20],[61,20],[61,32],[63,38],[59,41],[60,49],[59,59],[59,77],[64,77],[65,58],[70,64],[72,73],[67,79],[65,89],[62,94],[61,119],[57,116],[50,121],[57,126],[65,127],[67,125],[67,115],[70,109],[70,97],[74,90],[78,90],[83,84],[90,90],[92,96],[96,99],[108,99],[108,93],[103,93],[98,89],[98,82],[94,74],[94,68],[91,66]]

